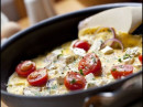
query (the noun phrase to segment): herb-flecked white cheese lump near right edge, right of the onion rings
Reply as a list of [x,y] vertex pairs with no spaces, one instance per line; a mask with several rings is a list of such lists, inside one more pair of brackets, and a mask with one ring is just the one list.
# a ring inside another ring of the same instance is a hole
[[140,55],[139,47],[138,46],[135,46],[133,49],[128,47],[125,51],[125,54],[129,54],[131,56],[138,56],[138,55]]

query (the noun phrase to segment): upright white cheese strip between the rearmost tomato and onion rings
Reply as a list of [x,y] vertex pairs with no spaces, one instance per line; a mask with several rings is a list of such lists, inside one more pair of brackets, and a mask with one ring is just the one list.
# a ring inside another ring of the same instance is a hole
[[88,52],[98,52],[101,49],[102,40],[95,40]]

